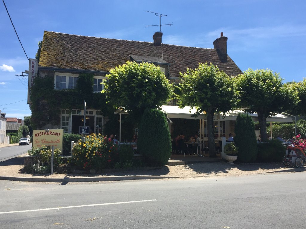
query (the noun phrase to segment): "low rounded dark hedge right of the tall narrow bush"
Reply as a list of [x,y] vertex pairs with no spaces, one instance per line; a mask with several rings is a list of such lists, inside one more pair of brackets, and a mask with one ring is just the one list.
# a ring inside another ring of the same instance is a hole
[[280,144],[278,140],[259,143],[257,144],[257,149],[258,159],[261,162],[280,162],[286,153],[286,147]]

